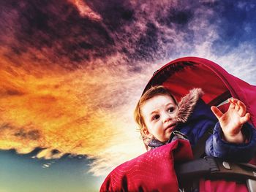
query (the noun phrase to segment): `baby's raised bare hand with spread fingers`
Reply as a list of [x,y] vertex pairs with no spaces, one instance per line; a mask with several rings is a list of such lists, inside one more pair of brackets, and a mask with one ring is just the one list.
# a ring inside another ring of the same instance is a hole
[[244,136],[241,133],[241,128],[246,123],[250,115],[246,113],[246,106],[238,99],[228,99],[230,107],[227,112],[222,113],[217,107],[212,106],[211,111],[218,118],[219,124],[222,127],[224,138],[227,142],[243,143]]

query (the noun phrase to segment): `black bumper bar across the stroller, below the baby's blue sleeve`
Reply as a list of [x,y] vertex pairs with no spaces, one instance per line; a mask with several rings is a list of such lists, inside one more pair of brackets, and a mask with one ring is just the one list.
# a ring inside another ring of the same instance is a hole
[[175,165],[178,181],[189,183],[200,177],[206,179],[225,179],[246,181],[249,191],[256,190],[256,166],[223,161],[220,158],[198,158],[184,164]]

